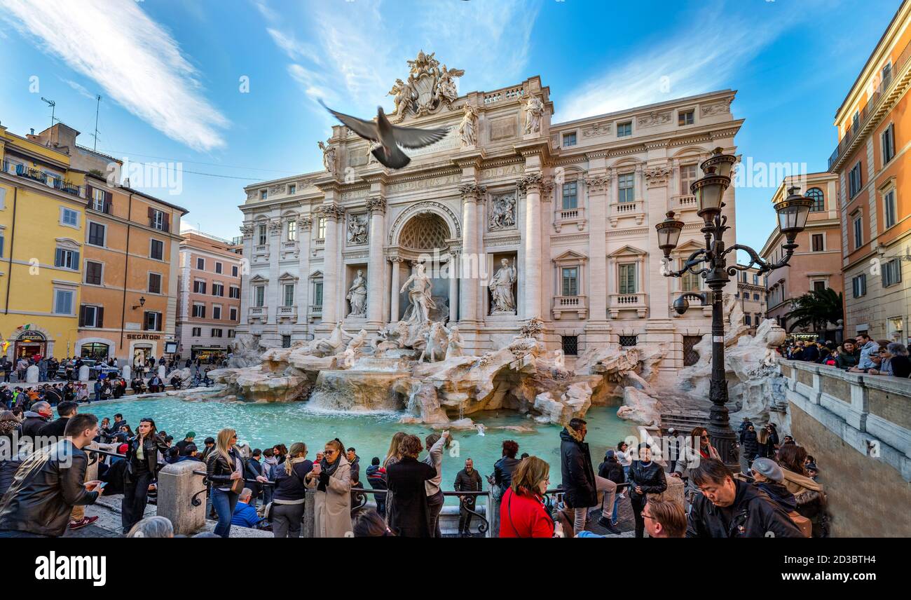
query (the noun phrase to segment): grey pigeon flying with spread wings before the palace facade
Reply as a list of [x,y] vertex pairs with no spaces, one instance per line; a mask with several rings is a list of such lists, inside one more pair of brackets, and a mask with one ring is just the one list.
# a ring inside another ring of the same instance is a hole
[[[322,104],[322,100],[320,101]],[[442,140],[449,129],[418,129],[416,127],[398,127],[386,119],[383,107],[377,107],[376,120],[365,121],[336,112],[325,104],[322,107],[331,112],[336,119],[342,121],[343,125],[351,129],[364,140],[377,142],[378,145],[371,153],[376,160],[382,162],[390,169],[402,169],[411,158],[405,154],[402,148],[424,148],[430,144]]]

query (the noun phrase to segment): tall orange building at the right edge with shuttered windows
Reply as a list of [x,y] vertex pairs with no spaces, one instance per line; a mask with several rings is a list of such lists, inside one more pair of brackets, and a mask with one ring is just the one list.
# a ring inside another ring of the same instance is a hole
[[844,334],[908,342],[911,314],[911,0],[835,113]]

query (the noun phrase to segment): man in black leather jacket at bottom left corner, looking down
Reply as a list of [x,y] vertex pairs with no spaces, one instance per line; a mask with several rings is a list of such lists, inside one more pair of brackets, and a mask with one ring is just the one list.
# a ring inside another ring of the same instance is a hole
[[67,531],[73,506],[95,503],[100,481],[85,481],[82,449],[97,434],[95,415],[76,415],[67,423],[66,440],[23,461],[0,500],[0,538],[58,537]]

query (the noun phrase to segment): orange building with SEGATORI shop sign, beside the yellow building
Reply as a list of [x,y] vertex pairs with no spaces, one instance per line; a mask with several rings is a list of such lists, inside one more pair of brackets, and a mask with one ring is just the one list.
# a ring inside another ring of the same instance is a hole
[[[122,163],[77,145],[79,132],[57,123],[37,143],[62,149],[86,172],[82,285],[75,354],[118,365],[177,351],[180,218],[186,209],[118,184]],[[166,342],[171,342],[166,347]]]

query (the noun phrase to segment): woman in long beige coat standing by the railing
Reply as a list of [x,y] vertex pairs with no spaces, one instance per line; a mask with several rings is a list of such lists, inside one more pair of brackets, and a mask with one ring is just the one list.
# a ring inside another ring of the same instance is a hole
[[351,465],[336,438],[326,442],[322,460],[313,465],[304,481],[316,488],[313,505],[314,537],[347,537],[351,534]]

